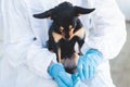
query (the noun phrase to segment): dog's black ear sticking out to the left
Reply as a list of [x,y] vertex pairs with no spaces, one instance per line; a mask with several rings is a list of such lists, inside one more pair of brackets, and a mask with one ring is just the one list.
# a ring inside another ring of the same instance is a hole
[[46,11],[43,13],[34,14],[34,17],[36,17],[36,18],[51,18],[52,13],[53,13],[53,9]]

